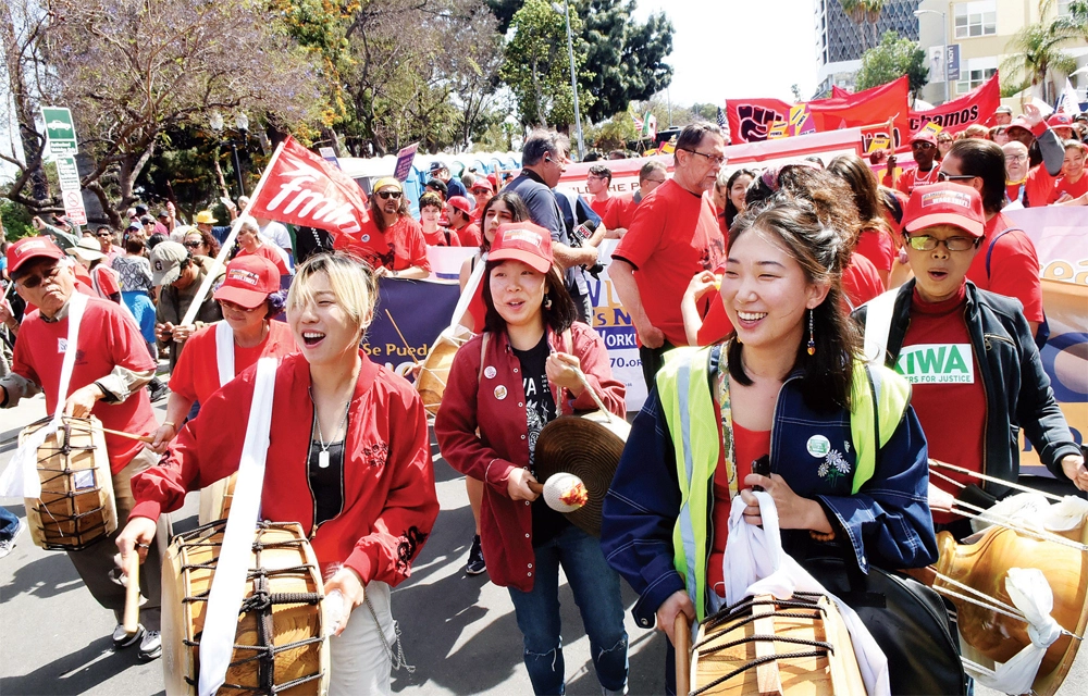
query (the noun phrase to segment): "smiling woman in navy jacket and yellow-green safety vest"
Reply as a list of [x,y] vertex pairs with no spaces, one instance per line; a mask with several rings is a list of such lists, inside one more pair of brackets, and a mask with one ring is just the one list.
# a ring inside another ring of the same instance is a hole
[[861,572],[936,558],[925,437],[906,384],[855,358],[848,258],[844,235],[804,200],[780,194],[733,223],[720,294],[735,335],[666,356],[605,499],[602,548],[640,595],[640,625],[671,641],[678,612],[721,606],[730,500],[759,524],[752,486],[774,497],[802,564],[831,545]]

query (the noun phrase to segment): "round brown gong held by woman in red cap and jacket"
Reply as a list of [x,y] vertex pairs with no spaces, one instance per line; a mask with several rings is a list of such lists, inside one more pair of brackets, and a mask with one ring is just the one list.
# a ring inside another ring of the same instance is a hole
[[565,514],[594,536],[601,536],[605,494],[616,475],[630,432],[627,421],[597,410],[581,415],[560,415],[545,425],[536,438],[533,456],[536,478],[546,481],[557,473],[581,478],[589,499]]

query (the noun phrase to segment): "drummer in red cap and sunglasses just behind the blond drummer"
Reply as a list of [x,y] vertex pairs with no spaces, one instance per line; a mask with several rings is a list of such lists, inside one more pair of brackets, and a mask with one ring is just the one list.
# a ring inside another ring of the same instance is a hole
[[170,375],[166,419],[156,431],[151,449],[164,452],[194,403],[206,402],[259,359],[282,358],[298,350],[290,327],[272,321],[283,311],[285,295],[280,289],[280,270],[268,259],[239,257],[226,264],[223,284],[213,297],[230,331],[217,322],[186,341]]

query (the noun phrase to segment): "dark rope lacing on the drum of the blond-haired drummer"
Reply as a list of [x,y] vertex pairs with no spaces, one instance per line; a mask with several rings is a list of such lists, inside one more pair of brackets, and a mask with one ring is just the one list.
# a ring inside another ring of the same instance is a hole
[[[198,527],[197,530],[194,530],[193,532],[184,536],[188,538],[198,536],[200,533],[202,533],[203,530],[210,526],[212,525],[205,525],[203,527]],[[254,539],[252,544],[252,550],[256,557],[255,564],[257,566],[257,568],[256,569],[250,568],[246,573],[246,580],[254,582],[254,593],[252,595],[243,600],[242,607],[238,610],[239,616],[249,612],[257,613],[257,619],[258,619],[257,635],[259,644],[258,645],[234,644],[233,648],[235,650],[249,650],[255,652],[255,655],[238,660],[233,660],[231,662],[231,667],[233,668],[257,660],[258,681],[260,682],[261,685],[259,687],[252,687],[252,686],[244,686],[240,684],[224,684],[223,688],[233,688],[252,694],[265,694],[272,696],[274,694],[279,694],[287,689],[294,688],[295,686],[298,686],[300,684],[305,684],[313,680],[320,680],[322,676],[321,672],[319,671],[317,673],[308,674],[306,676],[300,676],[298,679],[285,682],[283,684],[275,683],[275,656],[277,654],[286,650],[293,650],[296,648],[306,647],[307,645],[319,644],[324,639],[322,636],[319,635],[317,637],[304,638],[301,641],[285,643],[283,645],[274,645],[274,635],[273,635],[274,626],[272,621],[273,605],[306,604],[306,605],[319,606],[323,598],[323,596],[320,593],[269,592],[270,577],[275,577],[276,575],[307,573],[313,570],[312,567],[308,563],[304,563],[301,566],[293,566],[288,568],[276,568],[275,570],[269,570],[261,567],[262,551],[283,549],[283,548],[288,548],[288,549],[298,548],[299,546],[302,545],[304,542],[302,539],[292,539],[286,542],[274,542],[274,543],[264,543],[261,540],[261,534],[260,534],[261,531],[269,529],[276,529],[277,526],[279,525],[271,522],[260,522],[258,524],[258,535],[257,538]],[[186,540],[188,540],[188,538],[186,538]],[[187,546],[222,547],[222,543],[193,540],[191,543],[187,544]],[[214,572],[217,563],[218,563],[218,557],[212,559],[212,561],[208,563],[183,564],[180,570],[183,573],[190,570],[211,570],[212,572]],[[208,597],[210,594],[211,591],[208,589],[207,592],[200,593],[194,597],[185,597],[182,599],[182,601],[183,602],[208,601]],[[197,647],[200,645],[198,641],[188,641],[188,639],[184,639],[183,644],[186,645],[187,647]],[[186,676],[185,681],[193,686],[197,685],[197,680],[194,678]]]

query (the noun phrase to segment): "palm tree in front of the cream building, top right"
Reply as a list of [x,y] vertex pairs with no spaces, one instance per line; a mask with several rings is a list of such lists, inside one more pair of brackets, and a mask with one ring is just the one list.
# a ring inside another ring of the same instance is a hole
[[[1040,0],[1039,16],[1047,16],[1051,5],[1053,0]],[[1051,102],[1054,98],[1051,72],[1068,75],[1076,70],[1076,60],[1063,48],[1081,36],[1080,27],[1063,18],[1029,24],[1005,47],[1010,55],[1001,62],[1001,74],[1009,84],[1021,85],[1021,89],[1030,86],[1043,101]]]

